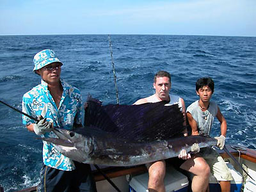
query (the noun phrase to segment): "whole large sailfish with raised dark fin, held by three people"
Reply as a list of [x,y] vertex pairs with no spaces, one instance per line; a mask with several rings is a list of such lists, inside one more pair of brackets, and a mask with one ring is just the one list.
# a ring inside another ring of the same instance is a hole
[[182,135],[184,116],[177,104],[165,101],[140,105],[109,104],[88,97],[84,127],[54,129],[58,138],[40,138],[52,143],[74,161],[106,166],[134,166],[177,157],[191,146],[216,145],[208,136]]

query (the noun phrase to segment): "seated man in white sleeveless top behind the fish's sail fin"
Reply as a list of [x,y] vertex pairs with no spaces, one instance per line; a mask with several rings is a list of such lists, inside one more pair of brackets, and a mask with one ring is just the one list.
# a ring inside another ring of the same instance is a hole
[[[147,102],[160,102],[162,100],[169,101],[169,104],[179,104],[179,107],[184,113],[184,119],[186,119],[186,107],[184,100],[175,95],[170,95],[171,89],[171,76],[168,72],[159,71],[154,77],[154,89],[156,93],[150,97],[146,97],[137,100],[134,104],[144,104]],[[184,125],[186,121],[184,121]],[[187,136],[187,132],[184,132],[184,136]],[[192,180],[191,188],[193,192],[201,191],[205,192],[209,183],[210,168],[205,162],[204,158],[194,154],[191,156],[187,154],[185,150],[180,152],[178,161],[179,168],[195,174]],[[165,176],[165,161],[156,161],[146,164],[148,168],[148,191],[165,191],[164,176]]]

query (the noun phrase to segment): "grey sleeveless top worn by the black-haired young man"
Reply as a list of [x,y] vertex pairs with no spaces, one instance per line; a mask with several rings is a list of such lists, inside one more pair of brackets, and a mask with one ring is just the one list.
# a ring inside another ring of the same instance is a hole
[[198,100],[196,100],[190,106],[188,106],[187,112],[189,112],[196,121],[199,129],[198,131],[201,134],[204,133],[210,135],[214,117],[218,112],[218,105],[211,101],[209,108],[206,111],[202,111],[198,106]]

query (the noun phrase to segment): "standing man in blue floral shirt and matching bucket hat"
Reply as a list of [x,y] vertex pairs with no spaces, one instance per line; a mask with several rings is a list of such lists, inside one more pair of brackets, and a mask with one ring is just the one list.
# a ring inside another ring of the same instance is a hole
[[[34,57],[33,72],[42,77],[41,84],[25,93],[22,111],[40,120],[22,116],[29,131],[42,137],[56,137],[53,127],[82,127],[80,91],[60,78],[63,65],[54,51],[45,49]],[[44,141],[44,165],[40,172],[38,191],[96,191],[88,164],[77,163],[63,156],[51,143]]]

